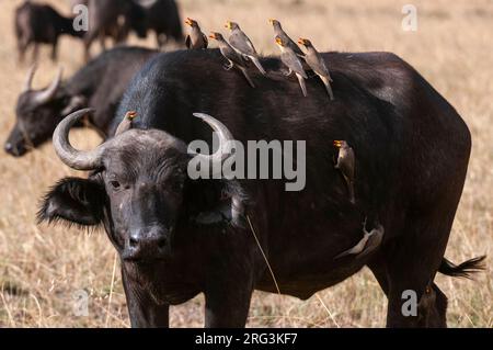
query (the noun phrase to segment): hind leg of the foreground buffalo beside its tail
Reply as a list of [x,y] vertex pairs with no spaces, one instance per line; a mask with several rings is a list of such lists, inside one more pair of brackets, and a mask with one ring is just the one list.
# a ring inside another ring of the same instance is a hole
[[446,327],[447,298],[433,280],[450,226],[444,217],[413,218],[399,245],[386,251],[388,327]]

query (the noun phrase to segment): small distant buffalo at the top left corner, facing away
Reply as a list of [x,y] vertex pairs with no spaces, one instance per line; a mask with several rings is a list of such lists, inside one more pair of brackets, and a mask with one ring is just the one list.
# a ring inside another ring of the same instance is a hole
[[15,9],[15,36],[19,59],[24,60],[25,52],[34,45],[34,60],[37,59],[38,45],[51,45],[51,59],[57,59],[58,38],[60,35],[82,37],[84,32],[73,29],[73,19],[59,14],[47,4],[24,1]]

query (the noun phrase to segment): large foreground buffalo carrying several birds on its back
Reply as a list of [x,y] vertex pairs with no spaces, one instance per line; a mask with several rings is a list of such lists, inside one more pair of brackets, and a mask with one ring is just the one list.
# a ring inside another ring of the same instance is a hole
[[[113,127],[136,111],[129,131],[81,151],[68,133],[90,111],[58,125],[60,159],[92,172],[60,180],[38,218],[105,228],[121,257],[134,327],[168,326],[169,305],[200,292],[207,327],[242,327],[253,290],[305,300],[364,266],[388,297],[389,327],[446,326],[447,297],[435,274],[467,276],[483,259],[455,266],[444,258],[469,162],[468,127],[392,54],[324,57],[334,101],[317,79],[307,81],[303,98],[296,78],[278,72],[278,58],[262,59],[266,77],[250,69],[252,89],[241,72],[222,69],[217,50],[175,52],[154,57],[133,79]],[[214,117],[200,121],[194,112]],[[286,180],[193,180],[187,144],[210,143],[213,131],[219,148],[200,155],[213,165],[230,156],[219,150],[231,137],[306,140],[305,189],[286,192]],[[354,204],[334,169],[334,139],[356,154]],[[385,227],[379,248],[334,259],[359,241],[365,217]],[[409,317],[401,313],[405,291],[419,301]]]

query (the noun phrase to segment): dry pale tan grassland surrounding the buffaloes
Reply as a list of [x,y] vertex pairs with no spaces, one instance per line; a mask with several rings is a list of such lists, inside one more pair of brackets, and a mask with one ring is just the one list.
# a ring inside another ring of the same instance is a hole
[[[14,55],[12,15],[20,2],[0,2],[2,143],[14,123],[15,100],[27,70]],[[49,2],[69,13],[66,1]],[[405,32],[401,9],[406,2],[179,0],[182,18],[197,19],[207,32],[223,31],[225,20],[238,21],[264,54],[277,53],[267,23],[268,18],[276,18],[291,36],[309,37],[321,50],[390,50],[413,65],[459,111],[473,137],[467,183],[446,256],[456,262],[484,253],[492,257],[493,2],[412,1],[419,26],[416,32]],[[45,48],[35,78],[37,87],[48,83],[56,72],[57,66],[47,57]],[[82,45],[64,38],[59,63],[66,74],[76,71],[82,64]],[[100,142],[88,129],[73,134],[80,147]],[[38,199],[57,179],[71,173],[58,161],[50,144],[22,159],[0,153],[0,326],[129,326],[117,266],[114,269],[115,251],[104,233],[35,224]],[[493,270],[491,261],[486,264],[488,270],[475,281],[437,278],[449,297],[449,326],[493,326]],[[89,293],[88,316],[73,313],[80,291]],[[376,280],[364,269],[308,301],[255,293],[248,325],[381,327],[386,304]],[[202,326],[202,306],[203,297],[198,296],[172,307],[171,325]]]

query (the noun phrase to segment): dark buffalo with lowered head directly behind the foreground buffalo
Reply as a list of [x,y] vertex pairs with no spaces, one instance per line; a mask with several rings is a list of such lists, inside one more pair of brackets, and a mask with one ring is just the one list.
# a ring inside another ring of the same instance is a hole
[[5,151],[20,157],[30,148],[42,145],[50,139],[64,116],[84,106],[98,110],[90,123],[106,135],[128,82],[156,54],[156,50],[139,47],[114,48],[94,58],[66,81],[61,81],[59,74],[44,90],[32,89],[35,71],[32,68],[18,99],[16,123],[5,142]]

